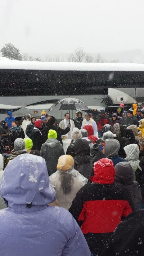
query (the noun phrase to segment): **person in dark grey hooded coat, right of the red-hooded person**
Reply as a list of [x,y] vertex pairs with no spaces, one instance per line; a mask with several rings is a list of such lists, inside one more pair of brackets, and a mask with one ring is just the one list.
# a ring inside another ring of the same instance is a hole
[[141,189],[137,181],[133,181],[133,171],[130,163],[120,162],[115,166],[116,175],[114,181],[123,184],[129,190],[135,211],[139,210],[141,202]]

